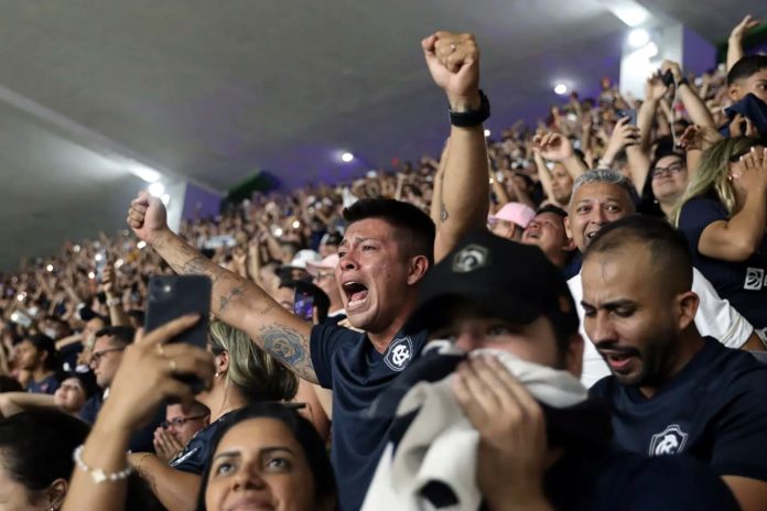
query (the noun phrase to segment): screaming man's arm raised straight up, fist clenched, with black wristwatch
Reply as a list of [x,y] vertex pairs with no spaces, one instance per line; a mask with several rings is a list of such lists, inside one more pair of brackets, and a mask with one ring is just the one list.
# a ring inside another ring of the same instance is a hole
[[[429,72],[447,96],[453,113],[479,112],[479,48],[474,35],[437,32],[421,42]],[[451,126],[434,259],[450,252],[463,235],[483,229],[489,208],[487,146],[482,120]]]

